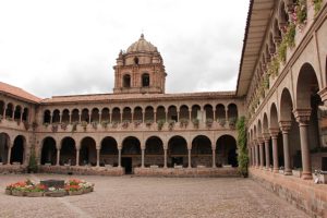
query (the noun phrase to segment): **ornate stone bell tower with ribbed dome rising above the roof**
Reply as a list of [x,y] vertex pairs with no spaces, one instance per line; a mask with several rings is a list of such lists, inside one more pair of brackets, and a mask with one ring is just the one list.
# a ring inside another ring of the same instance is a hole
[[157,47],[140,39],[120,51],[114,70],[114,94],[165,93],[166,71]]

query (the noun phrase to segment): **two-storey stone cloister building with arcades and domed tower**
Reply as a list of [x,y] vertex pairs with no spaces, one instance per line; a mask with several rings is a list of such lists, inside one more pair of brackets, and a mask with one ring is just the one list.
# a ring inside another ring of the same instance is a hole
[[164,60],[144,35],[119,53],[112,94],[40,99],[1,83],[0,171],[23,169],[35,150],[48,172],[234,173],[245,116],[250,174],[290,201],[310,189],[314,197],[303,191],[296,204],[320,216],[327,191],[313,172],[327,170],[326,2],[251,0],[235,92],[166,94]]

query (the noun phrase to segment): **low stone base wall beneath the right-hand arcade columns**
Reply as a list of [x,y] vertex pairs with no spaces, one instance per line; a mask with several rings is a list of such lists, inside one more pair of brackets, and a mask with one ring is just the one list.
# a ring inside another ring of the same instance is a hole
[[250,177],[312,217],[327,217],[327,185],[250,168]]

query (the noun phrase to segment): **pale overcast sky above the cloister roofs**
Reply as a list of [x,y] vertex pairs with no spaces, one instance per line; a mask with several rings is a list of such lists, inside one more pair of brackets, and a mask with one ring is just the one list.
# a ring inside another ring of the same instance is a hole
[[249,0],[0,0],[0,81],[39,97],[112,93],[120,49],[164,58],[166,93],[233,90]]

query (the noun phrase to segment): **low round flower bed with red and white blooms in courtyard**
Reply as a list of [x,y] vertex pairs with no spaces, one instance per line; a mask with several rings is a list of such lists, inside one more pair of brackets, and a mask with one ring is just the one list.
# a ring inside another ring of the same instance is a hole
[[84,180],[71,179],[68,180],[62,187],[46,186],[40,183],[35,183],[31,180],[21,181],[7,185],[5,194],[13,196],[27,197],[63,197],[66,195],[81,195],[94,191],[94,184]]

